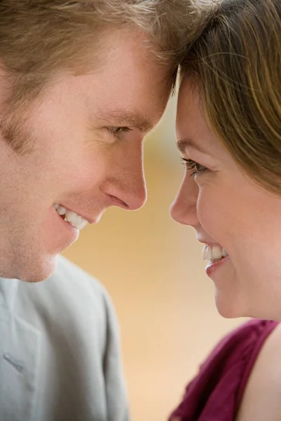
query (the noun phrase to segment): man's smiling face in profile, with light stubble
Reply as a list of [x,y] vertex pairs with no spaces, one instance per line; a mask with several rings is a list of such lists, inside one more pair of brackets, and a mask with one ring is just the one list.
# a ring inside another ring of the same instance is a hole
[[[16,127],[32,140],[31,153],[0,138],[0,276],[51,275],[55,256],[79,236],[58,205],[98,222],[109,206],[145,203],[143,138],[166,107],[169,69],[148,53],[143,34],[103,36],[100,69],[57,76]],[[66,216],[76,225],[74,213]]]

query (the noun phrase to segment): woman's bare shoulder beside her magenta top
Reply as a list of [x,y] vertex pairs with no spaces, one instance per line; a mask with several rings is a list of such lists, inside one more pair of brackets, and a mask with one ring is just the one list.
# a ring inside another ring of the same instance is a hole
[[280,421],[281,324],[259,350],[235,421]]

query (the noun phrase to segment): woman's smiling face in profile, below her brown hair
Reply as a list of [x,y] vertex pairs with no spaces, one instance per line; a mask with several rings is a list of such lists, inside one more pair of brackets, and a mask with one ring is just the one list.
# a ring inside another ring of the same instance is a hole
[[[177,142],[187,166],[171,215],[197,232],[226,317],[281,319],[281,196],[251,180],[207,126],[183,79]],[[226,257],[224,257],[226,256]]]

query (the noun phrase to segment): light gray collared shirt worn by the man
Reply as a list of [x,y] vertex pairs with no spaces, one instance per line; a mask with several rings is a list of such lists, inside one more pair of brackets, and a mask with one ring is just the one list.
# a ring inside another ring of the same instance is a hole
[[65,258],[40,283],[0,279],[0,420],[129,420],[112,303]]

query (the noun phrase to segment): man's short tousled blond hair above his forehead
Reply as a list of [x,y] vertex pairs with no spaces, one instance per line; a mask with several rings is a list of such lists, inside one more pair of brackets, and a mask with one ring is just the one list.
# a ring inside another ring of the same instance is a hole
[[159,60],[176,68],[195,15],[193,0],[2,0],[0,60],[11,74],[13,105],[34,98],[61,69],[83,71],[108,28],[141,29]]

